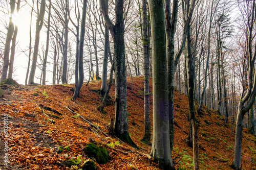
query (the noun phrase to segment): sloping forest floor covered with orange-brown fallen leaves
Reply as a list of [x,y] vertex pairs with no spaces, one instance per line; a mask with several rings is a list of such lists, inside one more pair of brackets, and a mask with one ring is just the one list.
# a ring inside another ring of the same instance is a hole
[[[83,85],[76,103],[70,100],[73,94],[70,89],[73,86],[74,84],[2,86],[5,93],[0,98],[1,170],[71,169],[63,167],[60,162],[79,158],[82,164],[88,159],[82,149],[92,141],[110,146],[106,149],[111,160],[106,164],[96,163],[98,169],[159,169],[156,163],[144,155],[150,154],[151,146],[141,141],[144,130],[143,77],[127,78],[129,133],[138,149],[107,134],[111,117],[115,113],[114,86],[110,91],[112,105],[104,108],[104,114],[97,110],[101,97],[96,91],[100,88],[101,81]],[[150,88],[152,91],[152,79]],[[184,140],[188,134],[188,99],[185,94],[181,94],[179,99],[179,92],[175,90],[174,101],[176,126],[172,159],[177,169],[193,169],[193,150]],[[42,105],[57,112],[46,110]],[[197,102],[195,106],[198,107]],[[205,106],[203,116],[197,119],[200,122],[200,169],[231,169],[235,125],[230,122],[224,124],[223,116]],[[8,121],[8,132],[4,121]],[[151,95],[151,127],[152,122]],[[4,157],[7,153],[4,151],[7,141],[8,158]],[[65,150],[57,153],[60,145]],[[5,159],[8,159],[9,167],[4,165]],[[242,169],[253,168],[256,169],[256,136],[249,134],[248,129],[244,128]]]

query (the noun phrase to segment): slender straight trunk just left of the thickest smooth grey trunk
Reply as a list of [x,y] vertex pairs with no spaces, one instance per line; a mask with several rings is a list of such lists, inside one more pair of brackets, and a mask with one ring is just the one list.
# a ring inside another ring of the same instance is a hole
[[150,58],[148,56],[148,38],[147,38],[147,14],[146,0],[142,1],[142,32],[143,32],[143,57],[144,57],[144,136],[141,139],[146,144],[151,144],[150,131]]

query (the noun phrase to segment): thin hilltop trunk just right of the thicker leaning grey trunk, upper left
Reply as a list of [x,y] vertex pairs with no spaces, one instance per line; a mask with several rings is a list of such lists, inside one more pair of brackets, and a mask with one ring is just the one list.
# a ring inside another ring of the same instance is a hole
[[49,51],[51,6],[52,6],[52,3],[50,0],[49,13],[48,13],[47,38],[46,38],[46,52],[45,52],[44,63],[42,64],[42,85],[46,84],[46,64],[47,64],[47,57],[48,57],[48,51]]

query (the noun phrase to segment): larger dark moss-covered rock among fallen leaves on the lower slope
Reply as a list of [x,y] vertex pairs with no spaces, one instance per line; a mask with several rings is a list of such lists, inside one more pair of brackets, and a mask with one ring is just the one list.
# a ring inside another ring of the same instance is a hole
[[99,164],[107,163],[110,160],[108,151],[104,147],[93,143],[87,143],[84,152],[88,155],[89,158],[94,157],[96,162]]

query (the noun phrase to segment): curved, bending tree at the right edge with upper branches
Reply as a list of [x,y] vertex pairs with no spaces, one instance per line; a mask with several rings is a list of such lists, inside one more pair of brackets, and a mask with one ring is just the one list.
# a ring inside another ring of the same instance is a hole
[[[242,150],[242,135],[243,135],[243,117],[250,110],[253,103],[255,102],[256,95],[256,72],[254,61],[256,58],[256,46],[252,45],[252,42],[255,41],[255,36],[253,30],[256,28],[255,18],[256,18],[256,8],[255,8],[255,0],[253,2],[246,2],[246,5],[251,8],[248,9],[247,15],[247,33],[246,41],[248,44],[248,87],[247,89],[243,86],[242,95],[239,101],[238,112],[237,112],[237,124],[236,124],[236,136],[234,143],[234,159],[232,162],[232,166],[235,169],[241,169],[241,150]],[[253,29],[254,27],[254,29]],[[253,49],[254,48],[254,49]],[[244,65],[245,66],[245,65]],[[254,74],[254,76],[253,76]],[[245,81],[245,80],[243,80]]]

